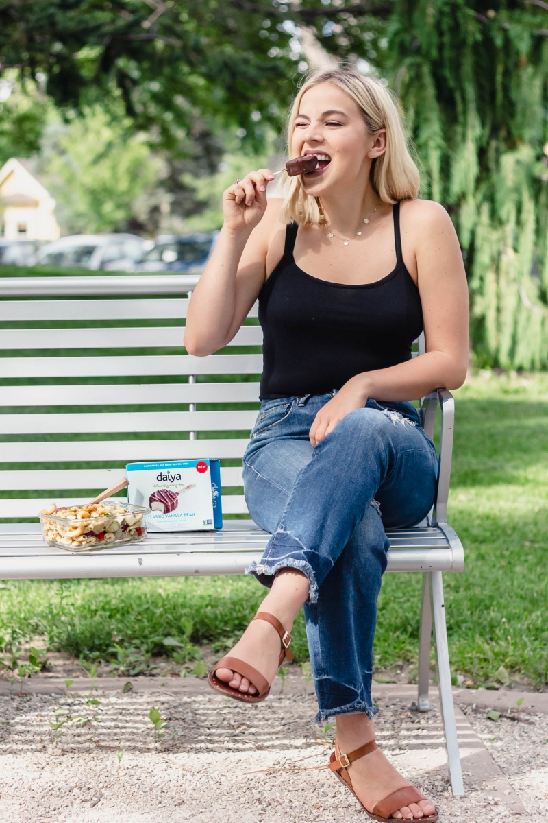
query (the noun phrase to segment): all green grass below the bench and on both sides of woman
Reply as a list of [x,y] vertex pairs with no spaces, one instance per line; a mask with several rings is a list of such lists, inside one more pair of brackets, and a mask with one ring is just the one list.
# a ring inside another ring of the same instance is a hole
[[[463,541],[463,574],[445,574],[455,674],[475,683],[548,682],[548,375],[478,374],[456,393],[449,522]],[[375,667],[417,662],[418,574],[387,574]],[[246,578],[14,581],[2,585],[0,643],[46,635],[87,661],[116,642],[144,654],[229,647],[263,590]],[[181,647],[179,647],[181,648]],[[306,660],[302,618],[297,659]]]

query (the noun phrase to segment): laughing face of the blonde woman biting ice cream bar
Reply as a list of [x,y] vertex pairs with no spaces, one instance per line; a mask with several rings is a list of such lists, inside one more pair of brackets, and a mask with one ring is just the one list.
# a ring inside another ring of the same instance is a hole
[[[366,184],[371,160],[384,145],[384,131],[371,135],[357,104],[331,83],[320,83],[302,95],[291,135],[291,156],[315,154],[318,168],[302,175],[307,194],[318,196],[334,184]],[[375,148],[376,146],[376,148]]]

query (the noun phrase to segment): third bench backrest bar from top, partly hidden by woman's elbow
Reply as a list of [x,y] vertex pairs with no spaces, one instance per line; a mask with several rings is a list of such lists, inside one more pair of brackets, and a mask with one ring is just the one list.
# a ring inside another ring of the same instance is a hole
[[[0,329],[0,350],[159,348],[184,345],[184,326]],[[261,346],[260,326],[243,326],[231,346]]]

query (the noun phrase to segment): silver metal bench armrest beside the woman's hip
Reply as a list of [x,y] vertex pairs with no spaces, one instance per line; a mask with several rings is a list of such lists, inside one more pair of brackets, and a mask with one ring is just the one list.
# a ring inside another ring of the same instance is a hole
[[447,501],[449,498],[449,480],[451,477],[451,460],[453,458],[453,433],[455,405],[454,397],[447,388],[438,388],[423,401],[423,425],[426,434],[434,439],[434,421],[436,408],[440,407],[441,430],[439,449],[438,482],[435,489],[434,512],[432,524],[447,523]]

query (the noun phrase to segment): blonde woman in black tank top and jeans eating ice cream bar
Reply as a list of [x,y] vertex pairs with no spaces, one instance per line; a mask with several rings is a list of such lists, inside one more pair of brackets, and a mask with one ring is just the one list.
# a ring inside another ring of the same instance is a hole
[[[316,73],[292,107],[288,146],[317,169],[288,179],[284,200],[267,202],[269,170],[227,189],[185,332],[187,350],[208,355],[259,299],[265,369],[244,484],[251,516],[272,532],[248,570],[269,593],[210,685],[263,700],[304,605],[316,719],[336,720],[331,769],[375,820],[435,821],[376,747],[372,645],[385,528],[420,522],[434,495],[434,447],[408,401],[466,375],[462,257],[444,209],[417,199],[398,109],[378,81]],[[411,359],[423,327],[426,353]]]

